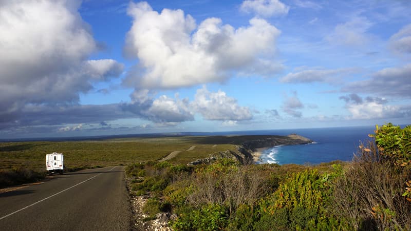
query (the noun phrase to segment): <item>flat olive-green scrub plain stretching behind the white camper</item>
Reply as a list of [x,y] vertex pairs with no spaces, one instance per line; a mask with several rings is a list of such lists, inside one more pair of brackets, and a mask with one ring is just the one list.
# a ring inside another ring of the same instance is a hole
[[[242,140],[243,138],[241,138]],[[27,168],[45,171],[46,154],[64,154],[68,169],[84,169],[93,166],[109,166],[135,162],[156,161],[174,151],[182,151],[172,163],[188,163],[208,157],[210,154],[235,149],[236,137],[160,137],[122,138],[98,141],[35,141],[1,142],[0,171]],[[215,145],[217,144],[217,145]],[[195,145],[195,149],[190,149]]]

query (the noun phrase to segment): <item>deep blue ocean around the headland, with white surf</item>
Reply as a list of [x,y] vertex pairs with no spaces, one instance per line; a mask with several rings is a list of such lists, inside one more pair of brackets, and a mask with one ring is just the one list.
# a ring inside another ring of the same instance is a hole
[[[360,142],[371,138],[375,127],[318,128],[270,131],[273,135],[298,135],[314,142],[305,145],[275,146],[262,152],[259,163],[319,164],[332,160],[352,160]],[[267,131],[268,133],[268,131]]]

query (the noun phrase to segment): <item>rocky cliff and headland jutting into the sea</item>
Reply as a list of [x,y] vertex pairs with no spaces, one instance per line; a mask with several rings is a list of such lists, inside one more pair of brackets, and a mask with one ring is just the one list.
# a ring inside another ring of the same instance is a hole
[[[259,136],[253,136],[253,138],[254,137],[258,138]],[[307,144],[311,142],[312,140],[297,134],[291,134],[288,136],[264,137],[261,139],[250,139],[245,142],[242,142],[241,145],[237,145],[236,150],[226,150],[223,152],[213,153],[210,157],[190,162],[189,165],[212,163],[215,160],[221,158],[232,158],[238,160],[241,164],[252,164],[252,153],[255,151],[255,149],[269,148],[277,145]]]

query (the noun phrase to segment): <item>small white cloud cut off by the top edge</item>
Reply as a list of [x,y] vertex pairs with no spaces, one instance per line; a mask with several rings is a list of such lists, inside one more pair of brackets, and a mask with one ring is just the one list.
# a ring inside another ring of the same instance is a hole
[[289,10],[290,7],[279,0],[246,0],[240,6],[240,11],[261,17],[286,15]]

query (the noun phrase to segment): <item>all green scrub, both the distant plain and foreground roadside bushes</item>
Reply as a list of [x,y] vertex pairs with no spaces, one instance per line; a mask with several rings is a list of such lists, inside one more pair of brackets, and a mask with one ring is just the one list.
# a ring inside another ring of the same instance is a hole
[[411,230],[411,126],[370,136],[351,162],[314,166],[186,165],[246,136],[0,143],[0,185],[41,178],[32,170],[44,169],[44,155],[62,152],[70,169],[128,164],[130,193],[148,198],[145,219],[176,214],[175,230]]

